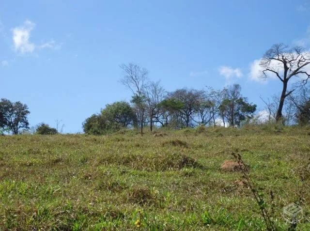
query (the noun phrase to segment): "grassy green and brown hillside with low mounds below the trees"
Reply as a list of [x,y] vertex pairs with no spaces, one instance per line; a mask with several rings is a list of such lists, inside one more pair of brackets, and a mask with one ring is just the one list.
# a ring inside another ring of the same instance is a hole
[[[158,132],[0,137],[0,230],[263,230],[251,191],[234,183],[242,173],[220,169],[231,152],[266,201],[274,192],[277,228],[287,229],[282,208],[298,200],[310,130]],[[303,188],[297,230],[310,230],[308,181]]]

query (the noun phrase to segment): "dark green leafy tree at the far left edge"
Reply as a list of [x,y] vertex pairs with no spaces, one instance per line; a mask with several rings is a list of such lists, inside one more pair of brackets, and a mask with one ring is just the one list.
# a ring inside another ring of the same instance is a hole
[[20,128],[29,128],[29,113],[28,106],[20,101],[11,102],[4,98],[0,101],[1,125],[13,134],[18,134]]

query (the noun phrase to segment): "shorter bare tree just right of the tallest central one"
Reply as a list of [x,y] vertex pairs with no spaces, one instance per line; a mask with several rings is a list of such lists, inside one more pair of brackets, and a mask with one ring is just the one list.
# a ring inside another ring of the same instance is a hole
[[160,103],[165,97],[165,90],[160,85],[160,81],[147,83],[146,87],[143,89],[143,94],[146,101],[146,111],[149,115],[150,130],[153,130],[153,123],[160,122]]

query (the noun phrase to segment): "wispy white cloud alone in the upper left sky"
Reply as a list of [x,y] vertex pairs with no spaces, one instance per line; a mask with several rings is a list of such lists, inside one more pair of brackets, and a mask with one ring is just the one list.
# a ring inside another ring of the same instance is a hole
[[32,53],[36,48],[60,48],[61,45],[56,44],[52,39],[42,45],[35,45],[30,41],[31,31],[35,28],[35,23],[26,20],[22,26],[13,28],[13,44],[16,52]]

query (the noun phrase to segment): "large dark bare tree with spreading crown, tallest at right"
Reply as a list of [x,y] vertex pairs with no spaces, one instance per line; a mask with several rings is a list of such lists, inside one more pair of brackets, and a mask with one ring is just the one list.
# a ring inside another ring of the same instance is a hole
[[[302,47],[293,47],[289,49],[283,44],[276,44],[272,46],[264,54],[260,62],[263,67],[263,77],[268,77],[267,73],[271,73],[279,78],[282,82],[282,92],[279,100],[279,107],[276,114],[276,121],[282,118],[282,109],[285,98],[289,96],[296,88],[303,86],[310,78],[310,71],[307,72],[306,66],[310,64],[310,54]],[[287,91],[289,80],[298,77],[292,90]]]

